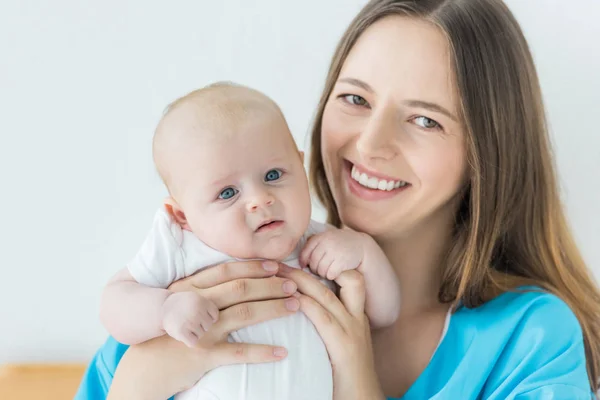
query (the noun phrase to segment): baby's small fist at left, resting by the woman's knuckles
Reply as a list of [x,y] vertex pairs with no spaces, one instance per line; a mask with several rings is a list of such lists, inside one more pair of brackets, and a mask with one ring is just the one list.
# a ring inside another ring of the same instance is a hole
[[162,307],[163,329],[173,339],[193,347],[219,317],[219,309],[196,292],[173,293]]

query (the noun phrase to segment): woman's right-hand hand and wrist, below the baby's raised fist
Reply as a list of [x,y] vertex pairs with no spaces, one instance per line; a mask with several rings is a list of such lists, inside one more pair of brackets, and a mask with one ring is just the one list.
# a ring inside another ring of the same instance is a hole
[[384,399],[379,386],[371,330],[365,315],[365,284],[355,270],[336,280],[340,298],[304,271],[280,266],[278,274],[296,282],[300,310],[321,335],[333,367],[334,400]]

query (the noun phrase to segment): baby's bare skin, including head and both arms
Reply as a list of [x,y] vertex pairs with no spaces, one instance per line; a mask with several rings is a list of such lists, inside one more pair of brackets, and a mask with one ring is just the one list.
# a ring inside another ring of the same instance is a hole
[[[224,91],[237,101],[219,98]],[[238,259],[283,260],[297,247],[310,220],[303,155],[268,98],[244,87],[193,92],[160,121],[153,148],[171,193],[165,208],[182,229]],[[373,327],[396,320],[399,285],[370,236],[331,229],[307,247],[303,264],[322,277],[333,280],[358,268],[368,278],[366,311]],[[105,288],[100,314],[121,343],[166,333],[194,347],[219,309],[195,292],[147,287],[125,268]]]

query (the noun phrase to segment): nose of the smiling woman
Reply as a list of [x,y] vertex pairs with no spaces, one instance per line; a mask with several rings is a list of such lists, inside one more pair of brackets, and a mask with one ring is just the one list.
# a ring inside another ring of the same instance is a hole
[[400,126],[386,113],[374,114],[356,141],[356,149],[365,159],[391,160],[396,156],[396,137]]

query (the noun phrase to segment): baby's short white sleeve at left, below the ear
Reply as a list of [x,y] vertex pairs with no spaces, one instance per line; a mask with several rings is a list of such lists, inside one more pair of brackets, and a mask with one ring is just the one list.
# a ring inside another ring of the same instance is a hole
[[142,285],[167,288],[185,269],[183,232],[164,209],[154,216],[152,229],[127,268]]

